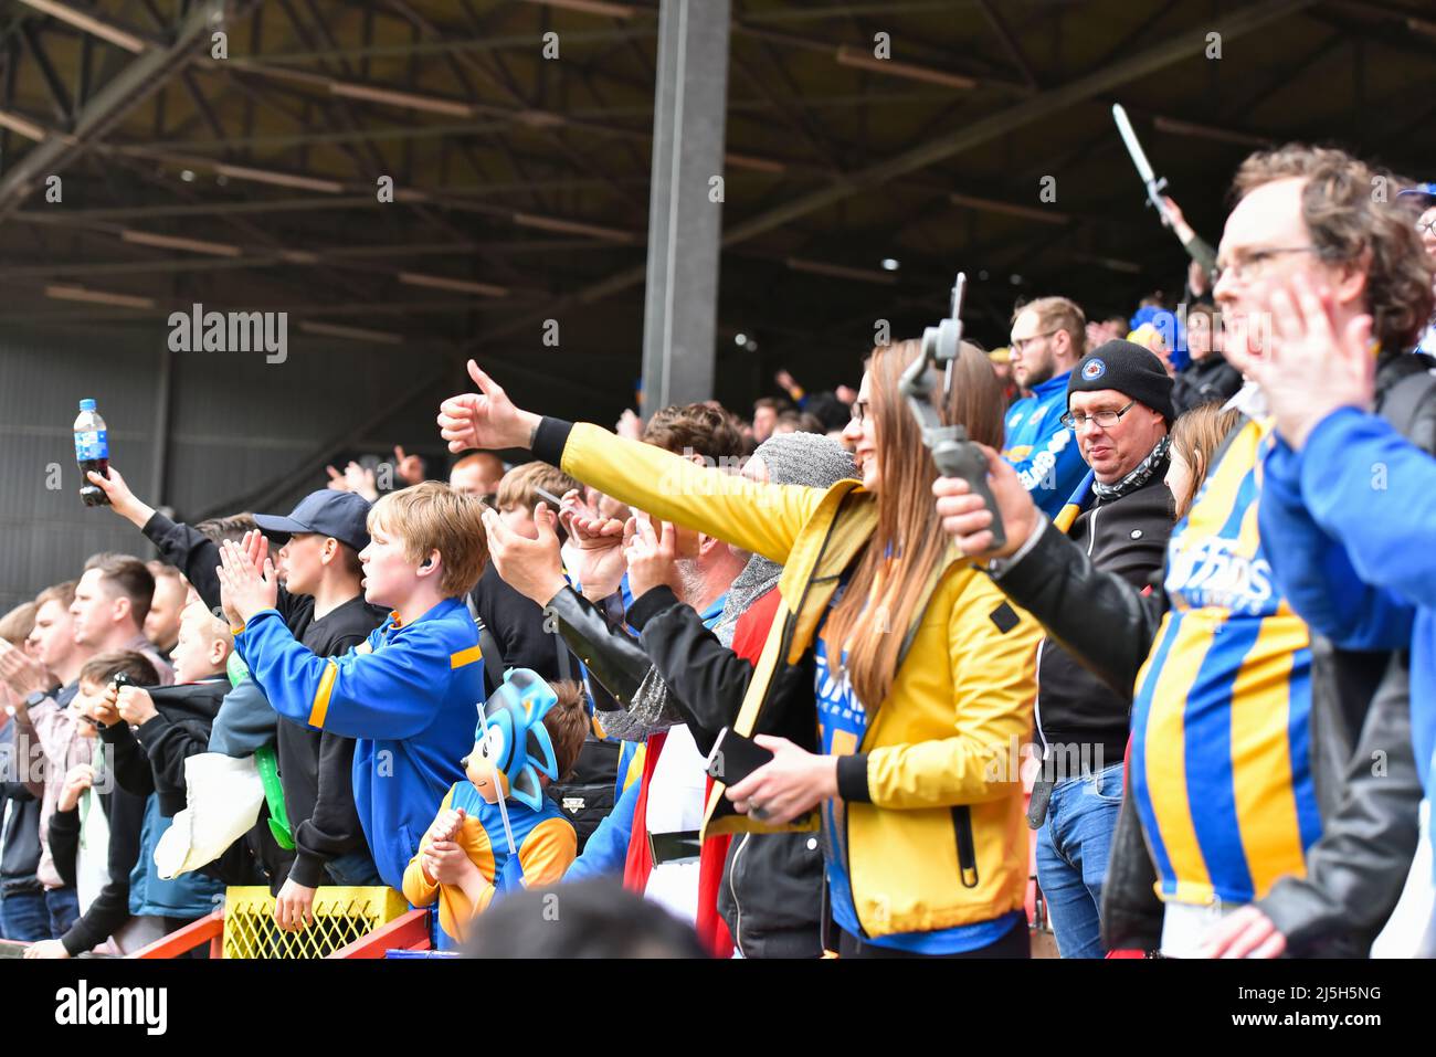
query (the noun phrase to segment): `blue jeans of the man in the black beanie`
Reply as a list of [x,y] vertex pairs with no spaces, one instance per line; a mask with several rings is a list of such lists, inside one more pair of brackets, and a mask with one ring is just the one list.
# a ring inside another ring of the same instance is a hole
[[1122,807],[1122,764],[1057,783],[1037,833],[1037,883],[1063,958],[1101,958],[1101,882]]

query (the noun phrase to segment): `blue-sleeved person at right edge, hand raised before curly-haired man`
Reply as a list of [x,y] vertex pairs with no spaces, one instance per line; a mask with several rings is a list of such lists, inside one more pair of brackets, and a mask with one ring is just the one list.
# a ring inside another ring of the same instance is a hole
[[[1413,365],[1396,386],[1377,383],[1379,369],[1386,376],[1393,360],[1414,359],[1403,349],[1414,343],[1433,303],[1427,276],[1423,297],[1400,299],[1404,316],[1371,310],[1390,303],[1403,281],[1403,269],[1391,261],[1420,259],[1416,240],[1402,234],[1404,246],[1384,230],[1370,236],[1384,244],[1384,264],[1324,264],[1268,281],[1272,335],[1268,355],[1254,360],[1251,372],[1277,425],[1262,462],[1259,507],[1261,533],[1272,541],[1274,580],[1311,629],[1337,648],[1410,651],[1412,742],[1429,797],[1436,750],[1436,458],[1369,411],[1394,415],[1402,429],[1430,444],[1426,372]],[[1414,414],[1397,409],[1396,394],[1409,383],[1423,394],[1409,408]],[[1366,817],[1363,833],[1373,826]],[[1285,936],[1259,905],[1223,925],[1223,956],[1277,956],[1285,949]],[[1425,939],[1427,956],[1436,954],[1433,941],[1436,925]]]

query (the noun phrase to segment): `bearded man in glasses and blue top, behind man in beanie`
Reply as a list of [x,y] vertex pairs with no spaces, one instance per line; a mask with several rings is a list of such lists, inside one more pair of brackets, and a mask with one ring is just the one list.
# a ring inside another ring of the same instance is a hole
[[1002,458],[1048,516],[1087,472],[1071,429],[1061,424],[1067,376],[1086,343],[1087,319],[1066,297],[1040,297],[1012,315],[1012,378],[1031,395],[1008,408]]

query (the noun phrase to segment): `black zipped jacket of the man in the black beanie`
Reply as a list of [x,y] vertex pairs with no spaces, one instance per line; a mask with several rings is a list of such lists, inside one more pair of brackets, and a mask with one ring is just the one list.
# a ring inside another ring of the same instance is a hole
[[[1094,500],[1068,531],[1094,567],[1139,590],[1162,569],[1172,536],[1172,493],[1162,480],[1166,465],[1163,461],[1146,483],[1120,498]],[[1037,685],[1037,732],[1044,748],[1058,760],[1091,760],[1094,768],[1122,761],[1132,717],[1130,686],[1126,694],[1116,692],[1050,641],[1040,646]],[[1084,745],[1090,745],[1086,753],[1080,751]],[[1060,774],[1057,780],[1068,777],[1076,776]]]

